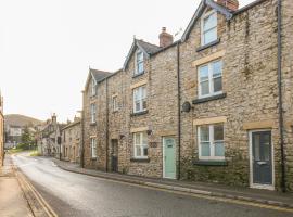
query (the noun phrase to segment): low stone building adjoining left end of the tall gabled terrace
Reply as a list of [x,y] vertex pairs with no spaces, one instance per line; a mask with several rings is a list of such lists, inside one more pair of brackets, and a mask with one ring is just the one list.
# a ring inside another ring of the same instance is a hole
[[75,117],[73,123],[69,123],[61,129],[61,158],[74,163],[80,162],[80,135],[81,125],[80,118]]

